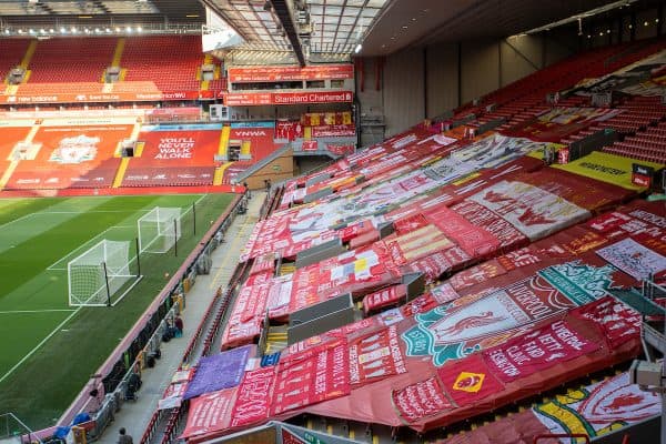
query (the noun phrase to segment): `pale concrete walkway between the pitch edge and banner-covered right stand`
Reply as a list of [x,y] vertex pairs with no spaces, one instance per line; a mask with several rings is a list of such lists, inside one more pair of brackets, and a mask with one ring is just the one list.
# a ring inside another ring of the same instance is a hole
[[[250,233],[259,220],[259,212],[264,199],[264,192],[254,192],[249,202],[248,212],[236,215],[225,233],[225,245],[218,248],[212,254],[211,273],[198,276],[188,293],[186,309],[181,314],[184,323],[183,336],[162,343],[162,356],[157,361],[155,366],[142,371],[143,384],[137,392],[137,401],[122,404],[122,408],[115,413],[113,423],[100,436],[98,441],[100,444],[115,444],[120,427],[125,427],[128,434],[134,438],[135,443],[139,443],[157,408],[158,401],[169,386],[173,373],[181,365],[183,353],[195,335],[195,326],[203,319],[215,290],[229,283],[239,261],[239,251],[248,242]],[[208,325],[203,326],[204,332],[206,327]],[[213,344],[212,350],[219,351],[219,344]],[[195,350],[195,353],[200,352]],[[196,357],[191,362],[196,362]],[[158,433],[152,442],[159,443],[161,438],[162,436]]]

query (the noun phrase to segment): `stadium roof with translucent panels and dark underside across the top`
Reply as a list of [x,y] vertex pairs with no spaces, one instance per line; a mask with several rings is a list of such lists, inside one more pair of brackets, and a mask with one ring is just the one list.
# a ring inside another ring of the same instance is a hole
[[[501,38],[584,16],[595,8],[644,7],[658,0],[0,0],[0,32],[20,27],[59,33],[68,27],[113,33],[199,33],[206,9],[240,34],[242,50],[384,56],[408,47]],[[602,11],[606,12],[606,11]],[[210,17],[210,16],[209,16]],[[587,17],[585,19],[587,21]],[[209,20],[210,22],[210,20]],[[118,28],[120,27],[120,28]],[[133,29],[134,32],[137,28]]]

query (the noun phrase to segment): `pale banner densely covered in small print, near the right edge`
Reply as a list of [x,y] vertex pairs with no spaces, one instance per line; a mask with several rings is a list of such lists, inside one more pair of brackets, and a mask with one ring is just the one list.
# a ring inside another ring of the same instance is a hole
[[666,258],[633,239],[624,239],[597,250],[596,253],[637,281],[666,270]]

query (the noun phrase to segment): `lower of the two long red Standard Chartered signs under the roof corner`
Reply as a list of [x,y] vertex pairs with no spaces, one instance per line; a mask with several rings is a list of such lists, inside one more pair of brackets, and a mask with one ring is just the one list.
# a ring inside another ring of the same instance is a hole
[[302,92],[256,92],[222,93],[228,107],[253,107],[263,104],[302,104],[302,103],[345,103],[354,100],[352,91],[302,91]]

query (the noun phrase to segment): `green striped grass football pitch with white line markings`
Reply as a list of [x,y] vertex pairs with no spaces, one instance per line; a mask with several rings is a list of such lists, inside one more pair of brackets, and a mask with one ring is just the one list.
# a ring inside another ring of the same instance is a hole
[[[12,412],[33,430],[53,425],[232,199],[0,200],[0,414]],[[184,214],[178,256],[173,249],[141,254],[143,279],[112,307],[70,306],[68,262],[102,239],[131,241],[133,256],[137,220],[155,206]]]

